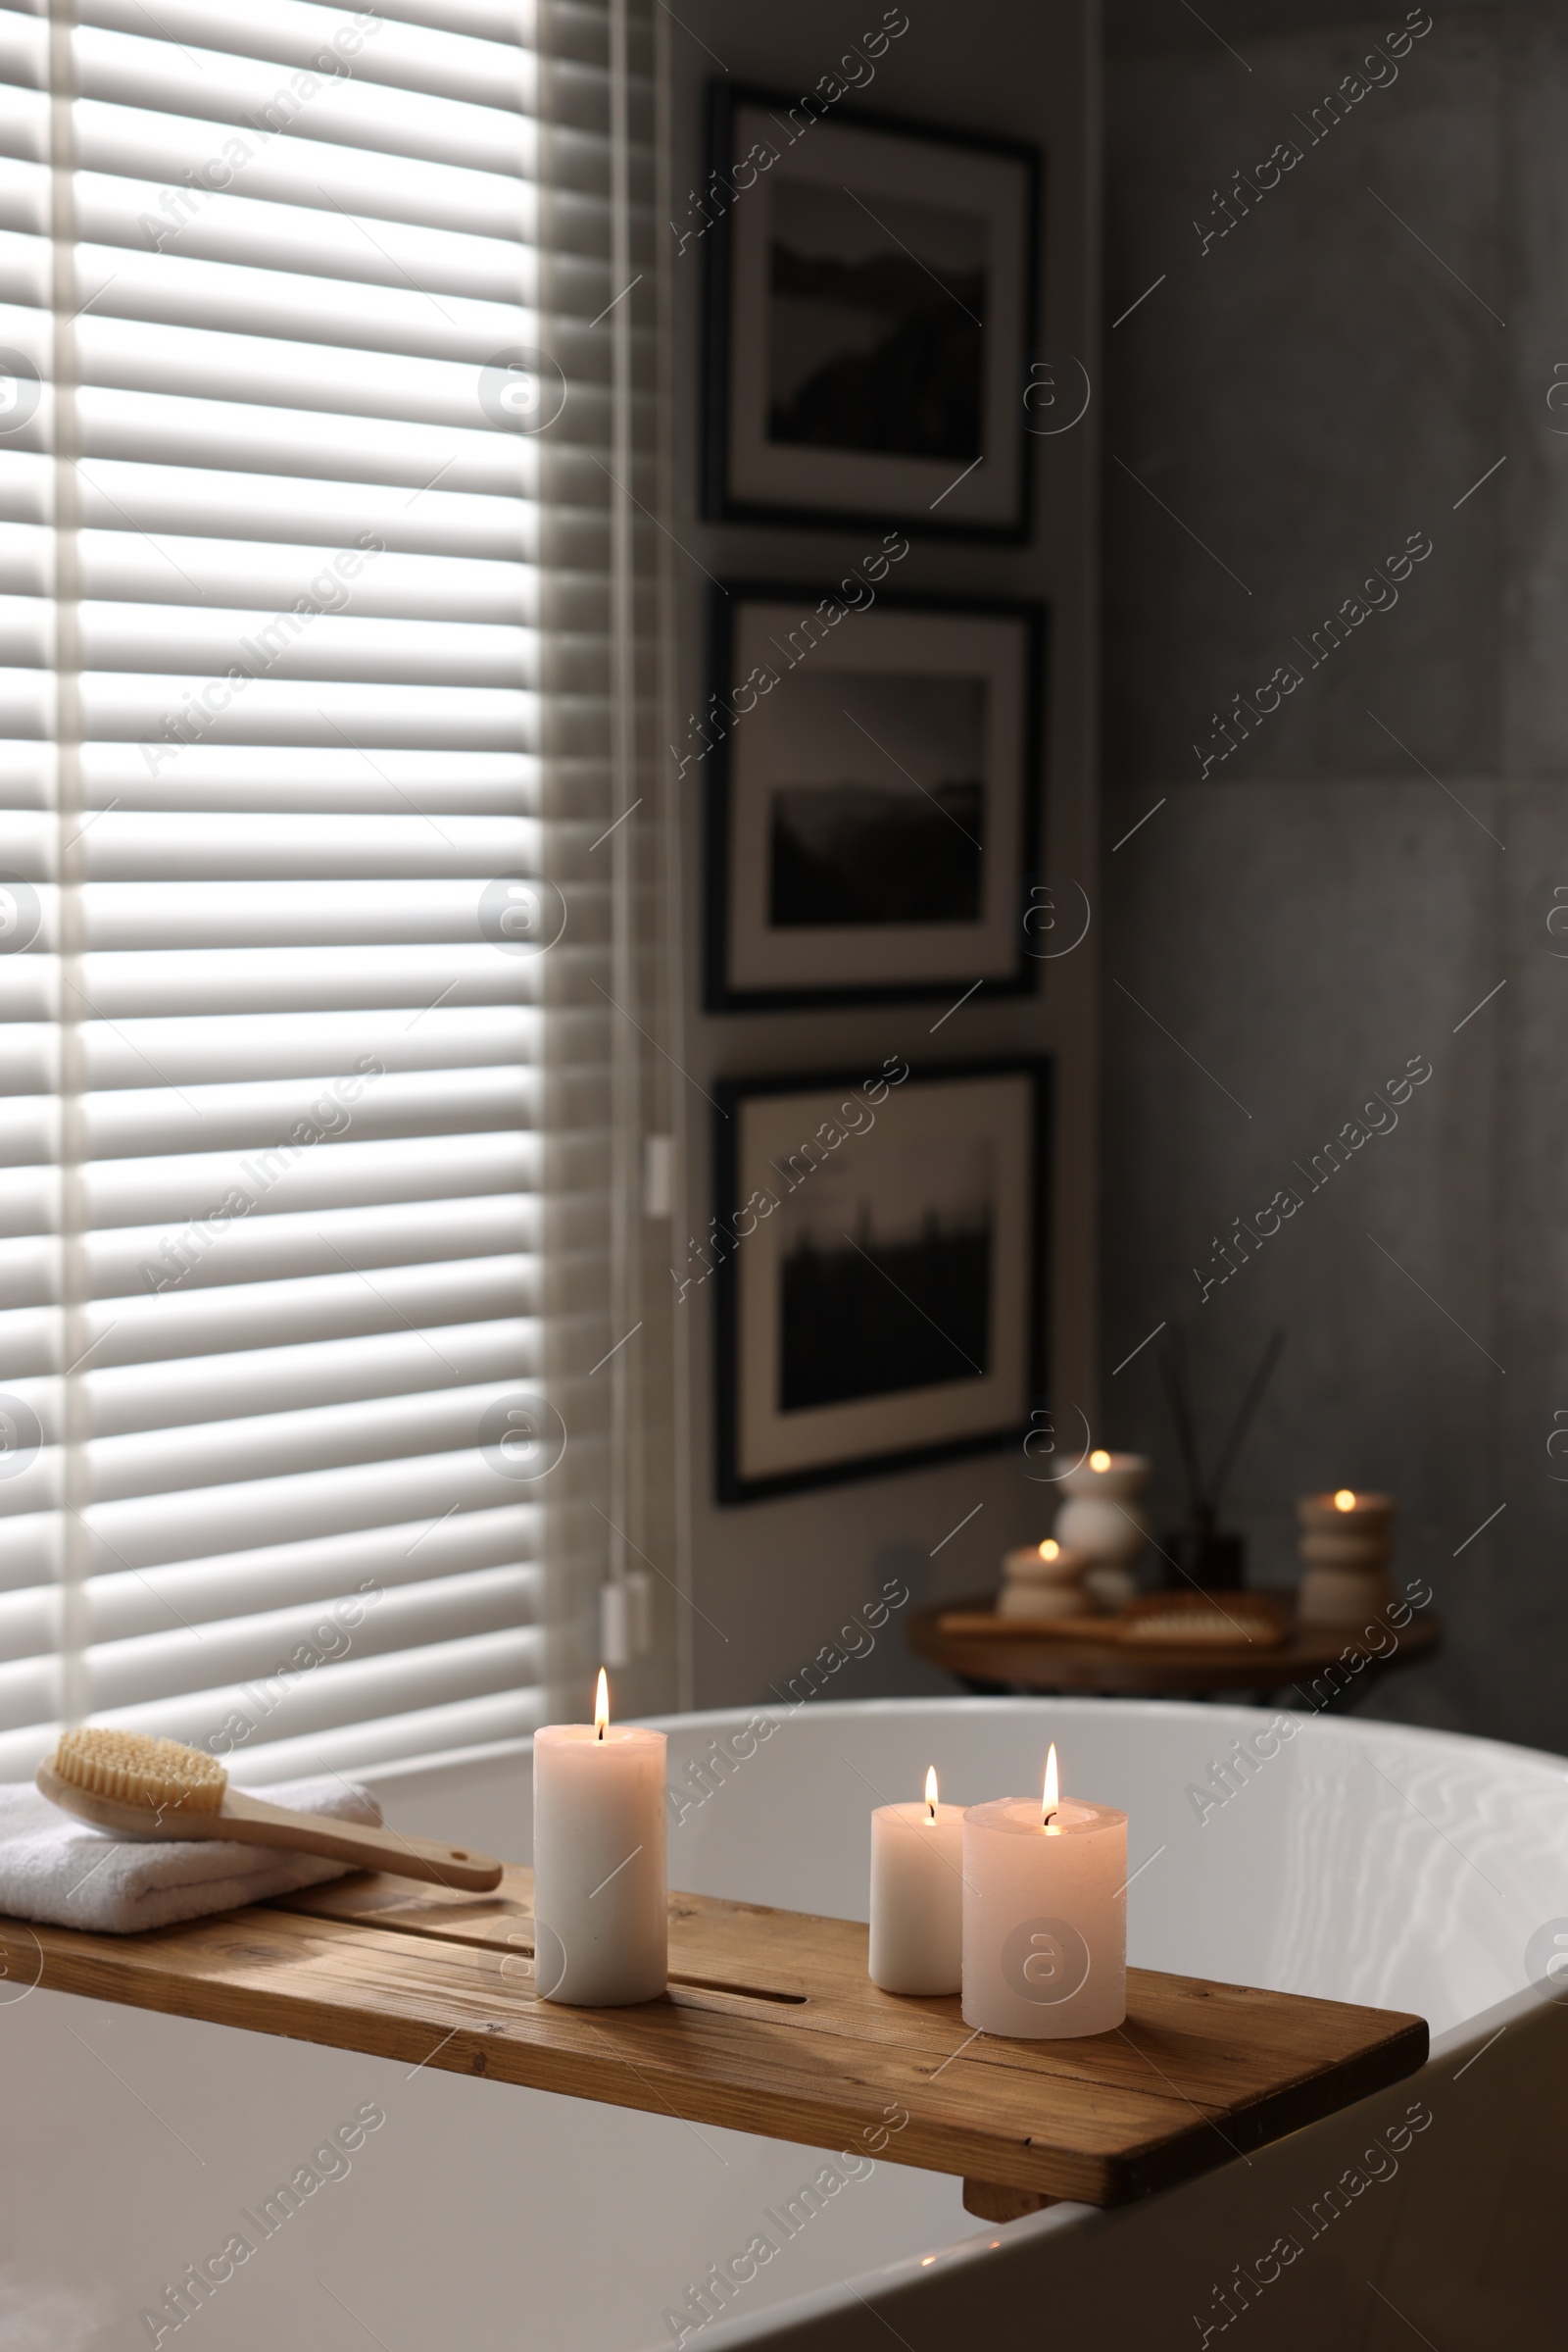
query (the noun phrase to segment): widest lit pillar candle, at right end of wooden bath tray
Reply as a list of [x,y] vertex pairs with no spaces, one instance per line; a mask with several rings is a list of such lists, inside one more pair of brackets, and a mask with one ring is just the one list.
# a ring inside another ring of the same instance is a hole
[[[1048,1818],[1046,1818],[1048,1816]],[[964,1813],[964,2023],[1020,2042],[1126,2018],[1126,1813],[1001,1797]]]

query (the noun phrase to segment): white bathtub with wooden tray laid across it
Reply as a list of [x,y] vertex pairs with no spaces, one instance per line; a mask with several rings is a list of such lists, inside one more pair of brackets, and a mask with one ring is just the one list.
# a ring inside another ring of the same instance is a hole
[[[672,1780],[743,1719],[670,1719]],[[1145,2352],[1232,2328],[1260,2352],[1561,2340],[1568,2006],[1528,1987],[1526,1947],[1568,1936],[1568,1771],[1316,1719],[1199,1820],[1187,1783],[1258,1726],[1241,1708],[1095,1700],[811,1705],[684,1813],[675,1886],[865,1917],[884,1792],[919,1790],[929,1762],[959,1802],[1032,1790],[1056,1738],[1065,1785],[1131,1813],[1135,1962],[1415,2009],[1434,2037],[1408,2084],[1114,2213],[978,2225],[957,2180],[884,2159],[703,2326],[712,2352]],[[371,1778],[402,1828],[527,1858],[527,1745]],[[165,2345],[651,2352],[675,2343],[665,2312],[691,2312],[691,2286],[820,2164],[433,2067],[2,1994],[5,2352],[153,2343],[139,2314],[357,2110],[386,2122],[350,2169]],[[1401,2136],[1410,2107],[1429,2122]],[[1279,2239],[1298,2251],[1269,2256]]]

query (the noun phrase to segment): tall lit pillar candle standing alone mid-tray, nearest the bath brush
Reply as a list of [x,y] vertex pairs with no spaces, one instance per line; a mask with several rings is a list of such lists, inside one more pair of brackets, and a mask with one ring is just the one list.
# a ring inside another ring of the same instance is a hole
[[665,1736],[609,1722],[534,1733],[534,1985],[618,2009],[665,1990]]

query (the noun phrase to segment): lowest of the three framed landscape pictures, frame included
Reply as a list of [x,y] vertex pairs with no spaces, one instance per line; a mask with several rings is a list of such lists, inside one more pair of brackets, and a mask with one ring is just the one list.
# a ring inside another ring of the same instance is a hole
[[1044,1061],[722,1082],[722,1503],[1023,1437],[1048,1120]]

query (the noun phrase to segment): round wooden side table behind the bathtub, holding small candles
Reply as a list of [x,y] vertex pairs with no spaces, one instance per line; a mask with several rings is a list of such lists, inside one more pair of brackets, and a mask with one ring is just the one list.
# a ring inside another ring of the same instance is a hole
[[[1396,1665],[1432,1658],[1443,1639],[1436,1616],[1413,1616],[1392,1646],[1375,1656],[1340,1625],[1295,1625],[1269,1649],[1154,1649],[1131,1642],[1060,1639],[1018,1618],[994,1618],[973,1628],[990,1609],[990,1595],[943,1602],[910,1621],[910,1649],[929,1658],[978,1696],[1016,1691],[1074,1693],[1079,1698],[1258,1698],[1281,1708],[1305,1705],[1314,1715],[1354,1708]],[[945,1618],[969,1618],[964,1628]]]

